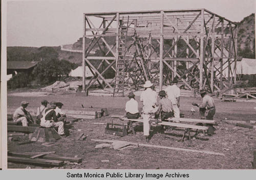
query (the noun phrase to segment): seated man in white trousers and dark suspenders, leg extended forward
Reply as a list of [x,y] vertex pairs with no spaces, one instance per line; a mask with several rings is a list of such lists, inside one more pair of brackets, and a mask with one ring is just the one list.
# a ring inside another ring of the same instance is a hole
[[42,127],[58,127],[58,134],[65,136],[64,126],[62,121],[58,121],[54,109],[56,108],[57,102],[50,102],[51,108],[45,110],[45,114],[41,118],[40,125]]

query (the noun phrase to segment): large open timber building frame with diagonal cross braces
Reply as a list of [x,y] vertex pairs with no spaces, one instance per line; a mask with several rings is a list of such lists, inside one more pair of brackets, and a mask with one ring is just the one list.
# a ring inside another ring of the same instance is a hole
[[[191,91],[222,91],[236,84],[237,39],[236,23],[206,9],[84,13],[82,89],[97,82],[124,95],[147,80],[162,90],[176,77]],[[89,56],[95,49],[102,56]],[[88,84],[86,65],[94,75]],[[108,71],[115,71],[111,81]]]

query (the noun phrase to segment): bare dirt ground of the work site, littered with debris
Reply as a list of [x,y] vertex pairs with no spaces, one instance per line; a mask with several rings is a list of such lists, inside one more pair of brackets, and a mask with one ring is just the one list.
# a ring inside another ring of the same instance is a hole
[[[29,107],[38,107],[42,99],[48,101],[61,101],[65,108],[67,107],[100,107],[107,108],[110,115],[124,115],[125,102],[127,97],[109,97],[109,96],[76,96],[75,94],[55,94],[38,96],[14,96],[14,92],[8,93],[8,107],[18,107],[22,100],[30,102]],[[139,97],[139,110],[142,109],[142,103]],[[199,110],[195,113],[190,111],[191,102],[201,102],[200,98],[181,97],[181,113],[185,118],[199,118]],[[253,149],[255,148],[256,131],[227,124],[227,120],[255,120],[256,103],[252,102],[221,102],[215,98],[217,120],[216,131],[213,136],[203,136],[202,132],[197,138],[188,139],[181,142],[183,135],[182,128],[176,128],[169,131],[167,135],[174,136],[180,140],[166,138],[165,133],[160,126],[153,126],[151,131],[151,140],[146,142],[143,136],[142,124],[135,127],[136,135],[129,133],[127,136],[119,137],[104,133],[106,125],[93,124],[95,122],[107,123],[113,122],[121,124],[119,119],[113,119],[105,116],[93,120],[78,120],[71,122],[66,126],[66,138],[61,138],[53,146],[43,146],[39,142],[31,144],[18,145],[18,143],[27,141],[28,136],[20,138],[19,142],[8,142],[8,150],[20,152],[38,152],[38,151],[56,151],[59,156],[78,156],[83,159],[81,165],[64,165],[63,168],[73,169],[252,169]],[[28,108],[29,108],[28,107]],[[76,141],[75,138],[80,134],[87,135],[87,139]],[[195,131],[192,131],[193,136]],[[255,136],[245,135],[254,134]],[[127,150],[114,150],[109,147],[95,149],[97,144],[103,142],[91,141],[91,139],[111,139],[120,141],[130,141],[141,144],[154,144],[161,146],[170,146],[186,149],[207,150],[224,153],[225,156],[208,155],[206,153],[186,152],[181,150],[160,149],[153,147],[136,147]],[[109,162],[101,162],[109,160]],[[8,168],[26,168],[24,164],[8,163]],[[31,166],[31,168],[42,168]]]

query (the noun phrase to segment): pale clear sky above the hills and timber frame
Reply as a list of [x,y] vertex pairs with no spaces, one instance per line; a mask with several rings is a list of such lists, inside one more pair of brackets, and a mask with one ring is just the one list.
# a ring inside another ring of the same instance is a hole
[[205,8],[231,21],[254,13],[254,0],[94,0],[7,2],[7,46],[59,46],[82,37],[83,13]]

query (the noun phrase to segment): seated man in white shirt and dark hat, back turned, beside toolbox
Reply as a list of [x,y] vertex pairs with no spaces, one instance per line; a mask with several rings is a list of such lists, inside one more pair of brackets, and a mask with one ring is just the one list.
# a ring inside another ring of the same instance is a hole
[[130,92],[128,95],[129,101],[126,102],[125,111],[126,117],[128,119],[138,119],[140,114],[138,110],[138,102],[135,100],[135,95],[133,92]]

